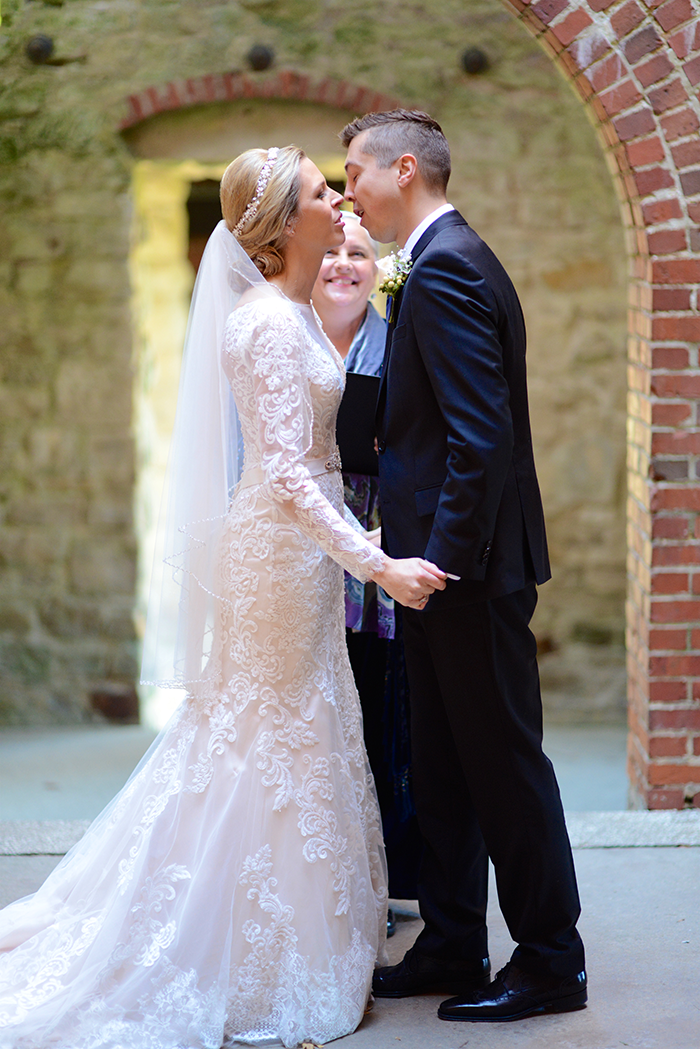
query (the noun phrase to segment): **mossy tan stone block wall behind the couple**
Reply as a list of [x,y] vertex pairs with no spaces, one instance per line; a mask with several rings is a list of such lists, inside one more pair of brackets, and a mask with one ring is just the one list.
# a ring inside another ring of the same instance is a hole
[[[59,64],[27,60],[37,34],[52,38]],[[237,109],[219,102],[154,116],[124,135],[118,128],[128,95],[246,70],[255,43],[276,55],[272,70],[246,73],[258,94],[276,69],[292,68],[315,83],[333,76],[367,85],[443,123],[454,154],[450,198],[502,257],[528,320],[555,569],[537,618],[550,649],[543,672],[557,694],[577,697],[579,714],[596,702],[597,715],[619,710],[621,226],[586,113],[523,26],[493,0],[427,0],[411,9],[398,0],[379,9],[334,0],[5,0],[0,719],[133,712],[133,165],[144,156],[226,160],[221,149],[230,143],[235,152],[243,124],[250,133],[264,128],[264,145],[297,135],[303,145],[309,110],[303,101],[283,103],[273,119],[273,105],[259,99]],[[490,59],[480,76],[460,67],[469,46]],[[342,101],[326,110],[338,127],[354,113]],[[339,155],[331,133],[314,148]]]

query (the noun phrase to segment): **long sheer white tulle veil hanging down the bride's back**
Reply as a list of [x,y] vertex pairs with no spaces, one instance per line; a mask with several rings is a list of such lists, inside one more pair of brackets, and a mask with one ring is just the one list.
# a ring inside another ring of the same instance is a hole
[[151,579],[142,682],[196,689],[206,680],[224,518],[242,467],[242,438],[221,366],[224,329],[241,296],[275,294],[221,220],[192,295],[177,411]]

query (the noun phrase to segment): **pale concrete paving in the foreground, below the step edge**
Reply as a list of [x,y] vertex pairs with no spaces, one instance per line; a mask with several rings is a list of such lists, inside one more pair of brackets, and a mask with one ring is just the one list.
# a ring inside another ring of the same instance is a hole
[[[379,1000],[347,1049],[698,1049],[700,1045],[700,848],[574,851],[590,1003],[563,1015],[511,1024],[455,1024],[437,1016],[444,996]],[[57,856],[0,857],[0,904],[37,889]],[[512,949],[491,894],[494,970]],[[416,904],[400,901],[389,962],[421,927]],[[144,1046],[143,1049],[148,1049]]]

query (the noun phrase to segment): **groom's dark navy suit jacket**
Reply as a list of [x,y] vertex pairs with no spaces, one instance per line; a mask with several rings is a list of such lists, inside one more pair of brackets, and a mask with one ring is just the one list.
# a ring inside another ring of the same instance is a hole
[[377,408],[382,536],[391,557],[461,576],[431,597],[438,608],[543,583],[550,571],[515,288],[455,211],[411,258]]

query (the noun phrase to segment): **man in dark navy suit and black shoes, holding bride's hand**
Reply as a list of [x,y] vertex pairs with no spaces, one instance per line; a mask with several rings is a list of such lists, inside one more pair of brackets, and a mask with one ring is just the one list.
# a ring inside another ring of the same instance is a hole
[[[528,415],[525,326],[493,253],[447,204],[449,147],[426,113],[341,132],[345,197],[410,252],[391,306],[377,410],[393,557],[449,573],[404,609],[425,927],[374,992],[457,994],[443,1020],[517,1020],[587,999],[580,913],[554,771],[542,750],[529,622],[549,561]],[[489,983],[487,859],[517,946]]]

